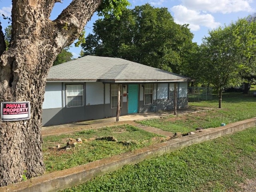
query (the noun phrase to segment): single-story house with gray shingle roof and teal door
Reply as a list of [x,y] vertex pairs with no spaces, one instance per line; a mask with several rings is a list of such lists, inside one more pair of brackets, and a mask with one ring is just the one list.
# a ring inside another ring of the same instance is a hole
[[188,80],[188,77],[121,58],[84,56],[50,69],[42,124],[116,116],[120,84],[120,116],[174,109],[174,83],[177,108],[186,108]]

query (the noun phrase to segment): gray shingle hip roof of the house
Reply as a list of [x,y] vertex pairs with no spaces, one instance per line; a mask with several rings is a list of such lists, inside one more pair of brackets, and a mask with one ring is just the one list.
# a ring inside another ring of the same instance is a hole
[[121,58],[84,56],[50,68],[48,81],[177,82],[188,77]]

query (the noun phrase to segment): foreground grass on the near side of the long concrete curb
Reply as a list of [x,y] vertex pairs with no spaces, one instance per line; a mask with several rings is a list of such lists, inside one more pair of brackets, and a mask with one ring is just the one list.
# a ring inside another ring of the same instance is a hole
[[64,192],[239,192],[256,174],[256,127],[97,177]]

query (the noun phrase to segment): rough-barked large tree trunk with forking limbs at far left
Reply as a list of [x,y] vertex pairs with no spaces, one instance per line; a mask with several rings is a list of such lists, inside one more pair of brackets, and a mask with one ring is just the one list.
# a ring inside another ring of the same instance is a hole
[[12,0],[8,51],[3,52],[0,30],[0,102],[30,101],[31,106],[29,120],[0,122],[0,186],[21,181],[23,174],[30,178],[44,173],[41,120],[48,71],[102,0],[73,0],[51,21],[56,2],[60,0]]

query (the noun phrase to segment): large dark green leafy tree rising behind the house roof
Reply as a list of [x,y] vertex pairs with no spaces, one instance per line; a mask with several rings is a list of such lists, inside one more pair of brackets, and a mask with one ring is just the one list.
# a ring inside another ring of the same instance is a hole
[[167,8],[149,4],[124,10],[120,20],[99,19],[93,31],[82,44],[84,55],[120,57],[179,73],[196,45],[188,25],[176,24]]

